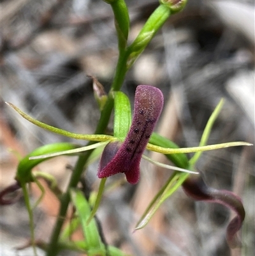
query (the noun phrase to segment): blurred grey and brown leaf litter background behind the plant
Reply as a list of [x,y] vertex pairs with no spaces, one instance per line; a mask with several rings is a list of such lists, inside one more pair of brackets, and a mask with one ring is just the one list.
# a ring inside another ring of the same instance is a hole
[[[158,2],[126,3],[132,41]],[[52,126],[93,133],[99,110],[87,75],[97,77],[107,91],[118,52],[113,13],[101,0],[2,0],[0,4],[2,190],[13,183],[18,156],[43,144],[74,141],[34,126],[4,102]],[[139,84],[159,87],[165,104],[157,132],[182,147],[198,146],[208,117],[225,98],[208,144],[254,143],[254,45],[254,0],[189,0],[136,61],[122,91],[133,101]],[[112,122],[108,128],[112,130]],[[159,154],[151,156],[166,161]],[[104,196],[98,218],[107,243],[137,256],[254,255],[254,160],[254,147],[233,147],[203,153],[197,164],[208,185],[242,197],[246,210],[239,234],[242,248],[230,250],[226,244],[226,226],[233,218],[226,207],[194,202],[181,189],[147,227],[133,233],[150,200],[170,176],[169,170],[143,161],[136,186],[125,183]],[[54,174],[64,189],[74,163],[75,158],[61,156],[39,169]],[[86,172],[88,191],[98,188],[97,169],[94,163]],[[32,186],[31,200],[39,193]],[[47,193],[34,210],[37,239],[48,241],[57,204]],[[0,211],[1,255],[33,255],[30,248],[15,250],[29,242],[24,199]]]

